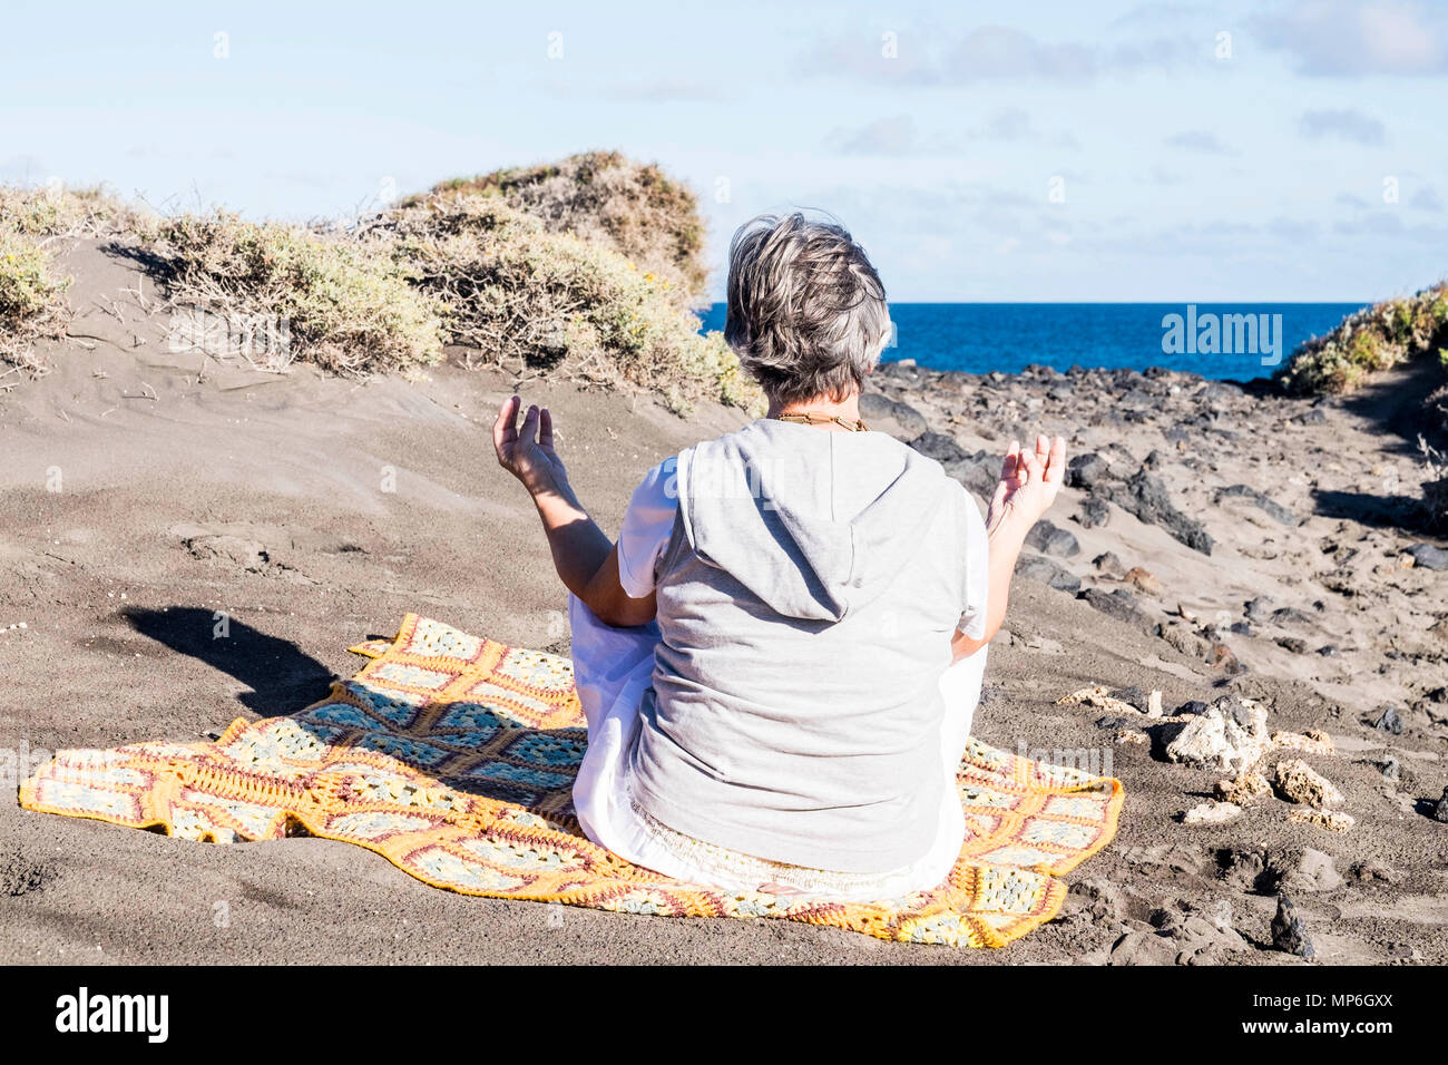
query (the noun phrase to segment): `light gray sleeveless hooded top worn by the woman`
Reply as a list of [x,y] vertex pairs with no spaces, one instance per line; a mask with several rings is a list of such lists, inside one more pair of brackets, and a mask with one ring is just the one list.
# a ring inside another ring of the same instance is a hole
[[975,501],[885,433],[778,420],[683,451],[675,477],[634,801],[770,861],[924,856],[947,787],[938,680],[985,617]]

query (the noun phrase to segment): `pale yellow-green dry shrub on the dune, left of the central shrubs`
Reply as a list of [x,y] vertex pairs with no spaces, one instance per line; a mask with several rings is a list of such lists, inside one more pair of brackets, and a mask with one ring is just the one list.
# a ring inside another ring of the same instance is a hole
[[375,242],[217,212],[167,219],[149,251],[174,306],[220,316],[232,336],[264,338],[242,349],[259,368],[301,359],[363,374],[442,358],[437,306]]

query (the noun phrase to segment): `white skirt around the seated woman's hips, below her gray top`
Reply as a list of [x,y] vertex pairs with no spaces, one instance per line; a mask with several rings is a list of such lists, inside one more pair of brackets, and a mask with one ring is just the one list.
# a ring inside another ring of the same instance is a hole
[[854,874],[743,855],[675,832],[634,806],[630,765],[639,742],[639,706],[653,678],[659,626],[653,622],[633,629],[605,625],[573,594],[568,597],[568,616],[573,629],[573,681],[588,719],[588,751],[573,784],[573,809],[591,840],[666,877],[737,893],[779,884],[807,895],[869,901],[928,891],[946,880],[966,835],[956,767],[980,701],[986,648],[956,662],[940,678],[946,698],[940,772],[946,788],[935,842],[919,861],[899,869]]

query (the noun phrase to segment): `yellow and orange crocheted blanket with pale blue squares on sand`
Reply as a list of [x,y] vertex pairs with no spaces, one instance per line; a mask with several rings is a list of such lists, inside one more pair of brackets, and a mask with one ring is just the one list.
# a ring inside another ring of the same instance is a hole
[[877,903],[723,893],[589,842],[572,784],[588,740],[568,659],[407,614],[372,661],[288,717],[210,743],[62,751],[20,806],[213,843],[310,835],[434,887],[670,917],[782,917],[880,939],[1003,946],[1050,920],[1058,877],[1116,830],[1122,788],[972,740],[970,835],[948,880]]

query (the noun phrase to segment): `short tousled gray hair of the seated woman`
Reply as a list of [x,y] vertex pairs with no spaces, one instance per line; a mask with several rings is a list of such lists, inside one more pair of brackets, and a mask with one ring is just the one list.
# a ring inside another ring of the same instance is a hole
[[889,332],[885,285],[844,226],[795,212],[734,233],[724,339],[772,400],[843,400]]

